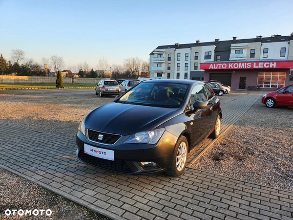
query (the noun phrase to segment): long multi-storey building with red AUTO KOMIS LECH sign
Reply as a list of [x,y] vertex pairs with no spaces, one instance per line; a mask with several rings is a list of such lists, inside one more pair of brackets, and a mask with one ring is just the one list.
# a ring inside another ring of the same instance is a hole
[[293,80],[293,34],[158,46],[150,78],[219,80],[232,89],[275,90]]

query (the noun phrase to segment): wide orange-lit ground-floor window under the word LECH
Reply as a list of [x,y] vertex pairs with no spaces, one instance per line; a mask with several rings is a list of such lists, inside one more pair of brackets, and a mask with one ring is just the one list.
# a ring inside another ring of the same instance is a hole
[[286,72],[258,72],[257,87],[282,88],[285,86]]

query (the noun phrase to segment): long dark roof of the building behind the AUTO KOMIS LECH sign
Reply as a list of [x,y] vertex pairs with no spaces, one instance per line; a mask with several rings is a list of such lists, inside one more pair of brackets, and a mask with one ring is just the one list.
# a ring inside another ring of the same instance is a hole
[[[174,49],[184,49],[184,48],[191,48],[194,46],[211,46],[215,45],[215,51],[230,51],[231,44],[242,44],[242,43],[255,43],[255,42],[261,42],[261,43],[272,43],[272,42],[289,42],[292,40],[292,36],[271,36],[267,38],[263,38],[261,36],[256,37],[256,38],[250,38],[250,39],[236,39],[235,42],[233,40],[228,40],[228,41],[213,41],[213,42],[199,42],[199,44],[192,43],[192,44],[172,44],[172,45],[162,45],[158,46],[156,49],[167,49],[167,48],[174,48]],[[154,54],[153,50],[149,55]]]

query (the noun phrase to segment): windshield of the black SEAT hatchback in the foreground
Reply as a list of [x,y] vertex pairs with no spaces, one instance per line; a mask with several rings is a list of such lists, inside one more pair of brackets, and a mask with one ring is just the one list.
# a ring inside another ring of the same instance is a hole
[[120,103],[162,108],[179,108],[189,85],[165,82],[140,83],[123,94]]

